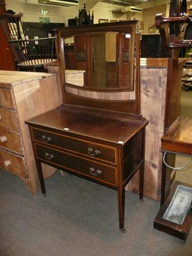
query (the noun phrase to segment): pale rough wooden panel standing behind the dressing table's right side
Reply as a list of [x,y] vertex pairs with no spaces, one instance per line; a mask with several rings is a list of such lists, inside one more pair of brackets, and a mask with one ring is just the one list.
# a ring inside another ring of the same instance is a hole
[[[141,115],[149,120],[145,133],[144,196],[155,200],[161,198],[163,164],[161,137],[164,133],[166,76],[166,67],[141,68]],[[138,192],[138,179],[139,176],[136,173],[126,189]]]

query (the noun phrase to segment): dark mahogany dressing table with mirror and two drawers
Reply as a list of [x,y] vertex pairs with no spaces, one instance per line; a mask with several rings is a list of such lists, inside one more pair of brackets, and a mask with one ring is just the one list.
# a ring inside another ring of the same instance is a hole
[[[125,186],[136,172],[140,173],[143,198],[148,124],[140,115],[140,36],[136,23],[132,20],[58,31],[63,104],[26,120],[42,193],[45,195],[42,163],[116,189],[122,232]],[[67,38],[74,40],[70,52],[65,49]],[[109,62],[113,63],[111,69]],[[83,70],[83,84],[76,76],[67,80],[69,69]]]

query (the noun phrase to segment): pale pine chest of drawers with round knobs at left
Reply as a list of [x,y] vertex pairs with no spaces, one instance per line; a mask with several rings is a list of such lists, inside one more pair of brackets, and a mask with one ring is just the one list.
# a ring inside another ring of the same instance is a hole
[[[19,176],[34,195],[38,178],[24,120],[58,105],[54,75],[0,71],[0,168]],[[45,171],[49,176],[54,169],[44,165]]]

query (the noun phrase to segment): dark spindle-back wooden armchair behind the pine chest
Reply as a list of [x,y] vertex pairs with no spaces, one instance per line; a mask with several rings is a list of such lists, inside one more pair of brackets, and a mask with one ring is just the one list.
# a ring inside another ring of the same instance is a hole
[[55,37],[28,38],[25,35],[21,17],[23,13],[11,15],[3,13],[0,15],[0,24],[6,38],[12,47],[17,63],[17,70],[24,69],[36,71],[37,68],[45,67],[46,63],[53,60],[53,49]]

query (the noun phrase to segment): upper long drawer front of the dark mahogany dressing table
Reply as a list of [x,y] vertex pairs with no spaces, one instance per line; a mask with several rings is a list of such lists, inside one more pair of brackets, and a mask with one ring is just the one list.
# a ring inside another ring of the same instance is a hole
[[109,163],[116,163],[116,148],[114,147],[78,140],[69,136],[63,136],[35,128],[33,128],[33,139],[64,148],[65,150],[77,152],[85,156],[96,157],[97,159],[108,161]]

